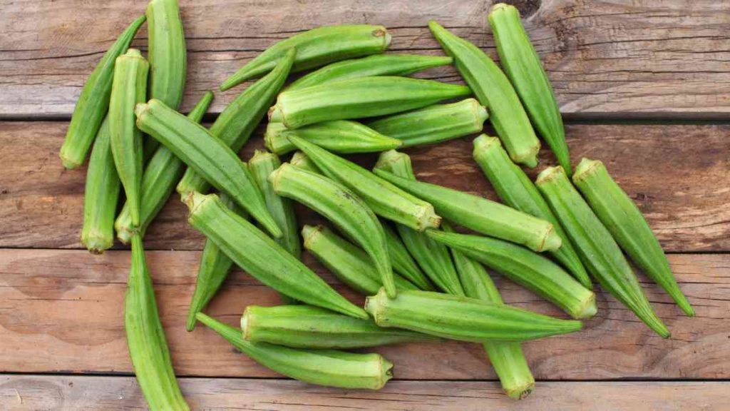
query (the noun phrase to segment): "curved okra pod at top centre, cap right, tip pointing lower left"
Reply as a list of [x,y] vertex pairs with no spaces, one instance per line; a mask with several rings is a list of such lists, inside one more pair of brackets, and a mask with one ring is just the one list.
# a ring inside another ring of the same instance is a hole
[[296,48],[292,72],[300,72],[329,64],[333,61],[380,54],[391,44],[391,34],[383,26],[336,25],[296,34],[264,50],[234,75],[220,89],[223,91],[244,81],[269,72],[291,48]]

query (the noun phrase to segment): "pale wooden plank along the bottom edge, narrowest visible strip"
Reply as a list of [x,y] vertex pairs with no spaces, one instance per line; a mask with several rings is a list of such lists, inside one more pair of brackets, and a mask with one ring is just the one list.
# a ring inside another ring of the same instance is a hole
[[[496,382],[393,381],[380,391],[317,387],[292,380],[183,378],[193,410],[721,410],[730,382],[538,382],[522,401]],[[600,399],[600,401],[597,401]],[[4,410],[146,409],[132,377],[6,375]]]

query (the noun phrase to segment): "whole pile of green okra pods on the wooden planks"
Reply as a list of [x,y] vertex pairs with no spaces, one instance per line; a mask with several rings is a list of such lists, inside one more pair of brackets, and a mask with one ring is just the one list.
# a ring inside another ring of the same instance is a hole
[[[435,21],[429,29],[445,56],[384,53],[391,35],[383,26],[301,32],[223,82],[220,90],[253,81],[210,128],[200,121],[212,92],[187,116],[177,111],[186,71],[177,0],[150,1],[123,31],[82,89],[61,159],[79,167],[91,151],[82,243],[94,254],[115,237],[131,243],[124,322],[150,409],[188,410],[142,245],[173,191],[207,237],[188,331],[201,322],[258,363],[312,384],[377,390],[393,363],[346,350],[454,339],[483,344],[504,392],[523,398],[534,378],[520,343],[579,331],[596,314],[594,280],[669,336],[628,260],[694,315],[652,230],[604,164],[583,158],[571,167],[555,94],[518,10],[496,4],[487,20],[502,67]],[[146,59],[129,48],[145,22]],[[445,65],[466,86],[409,77]],[[306,74],[293,80],[298,72]],[[265,117],[268,151],[243,162],[237,153]],[[496,137],[480,134],[487,120]],[[501,203],[419,181],[401,151],[469,135],[478,135],[474,160]],[[559,165],[532,181],[523,167],[538,166],[538,136]],[[368,170],[346,158],[353,153],[380,154]],[[331,227],[300,227],[293,202]],[[301,263],[302,247],[366,295],[364,307]],[[240,328],[204,314],[234,264],[284,305],[248,306]],[[487,269],[572,320],[504,304]]]

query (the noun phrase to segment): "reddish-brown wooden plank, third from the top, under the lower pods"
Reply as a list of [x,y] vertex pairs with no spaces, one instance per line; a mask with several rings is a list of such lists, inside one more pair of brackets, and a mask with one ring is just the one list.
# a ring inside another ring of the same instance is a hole
[[[185,331],[199,252],[148,252],[162,323],[178,374],[197,377],[276,377],[234,350],[212,331]],[[0,250],[0,372],[131,372],[122,305],[127,251],[93,256],[80,250]],[[315,268],[343,295],[363,298]],[[672,254],[680,287],[697,317],[683,316],[656,284],[642,282],[658,315],[672,331],[661,339],[605,293],[585,330],[528,342],[526,356],[537,378],[730,378],[730,254]],[[546,301],[497,278],[507,303],[565,317]],[[276,293],[249,276],[231,274],[207,312],[231,325],[250,304],[280,303]],[[408,380],[493,379],[477,344],[401,344],[379,347]],[[38,355],[44,352],[44,355]]]

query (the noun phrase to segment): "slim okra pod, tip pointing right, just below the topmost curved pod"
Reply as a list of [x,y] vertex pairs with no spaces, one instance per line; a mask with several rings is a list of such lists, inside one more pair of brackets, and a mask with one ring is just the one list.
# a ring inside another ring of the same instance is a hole
[[286,90],[318,86],[322,83],[347,78],[371,77],[374,75],[410,75],[432,67],[446,66],[453,59],[445,56],[423,56],[419,54],[374,54],[361,59],[350,59],[328,64],[310,72],[286,87]]

